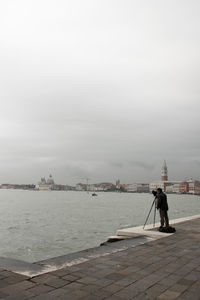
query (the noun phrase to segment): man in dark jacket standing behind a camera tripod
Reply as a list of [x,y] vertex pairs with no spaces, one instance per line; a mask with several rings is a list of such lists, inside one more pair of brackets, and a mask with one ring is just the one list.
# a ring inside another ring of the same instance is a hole
[[163,193],[161,188],[157,189],[156,199],[156,207],[160,212],[160,228],[164,227],[164,225],[169,227],[167,196],[165,193]]

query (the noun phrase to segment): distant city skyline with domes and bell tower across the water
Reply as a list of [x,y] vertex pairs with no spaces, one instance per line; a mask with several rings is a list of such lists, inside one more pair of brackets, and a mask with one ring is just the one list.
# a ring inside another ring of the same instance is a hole
[[[92,182],[91,178],[81,178],[75,186],[60,184],[54,181],[52,174],[41,177],[35,184],[1,184],[0,189],[22,189],[37,191],[82,191],[82,192],[127,192],[127,193],[149,193],[161,188],[166,193],[200,195],[200,180],[169,180],[166,160],[160,169],[160,180],[153,182],[116,182],[102,181]],[[91,181],[91,182],[90,182]],[[96,194],[94,194],[97,196]]]

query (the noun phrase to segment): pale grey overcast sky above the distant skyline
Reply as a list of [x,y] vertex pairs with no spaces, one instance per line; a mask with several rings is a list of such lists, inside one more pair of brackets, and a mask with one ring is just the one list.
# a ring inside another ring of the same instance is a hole
[[0,183],[200,178],[198,0],[2,0]]

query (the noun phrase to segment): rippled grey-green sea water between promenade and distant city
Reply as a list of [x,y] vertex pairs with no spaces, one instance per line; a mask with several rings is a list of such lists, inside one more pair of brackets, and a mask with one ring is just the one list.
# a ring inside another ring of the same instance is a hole
[[[35,262],[98,246],[144,224],[151,194],[0,190],[0,256]],[[200,214],[200,197],[168,195],[169,218]],[[159,220],[157,213],[156,220]],[[153,211],[149,222],[153,222]]]

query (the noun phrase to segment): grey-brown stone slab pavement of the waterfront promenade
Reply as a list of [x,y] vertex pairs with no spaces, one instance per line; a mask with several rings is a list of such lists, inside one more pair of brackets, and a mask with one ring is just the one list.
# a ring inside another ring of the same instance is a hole
[[174,235],[26,277],[0,270],[4,300],[200,299],[200,218]]

